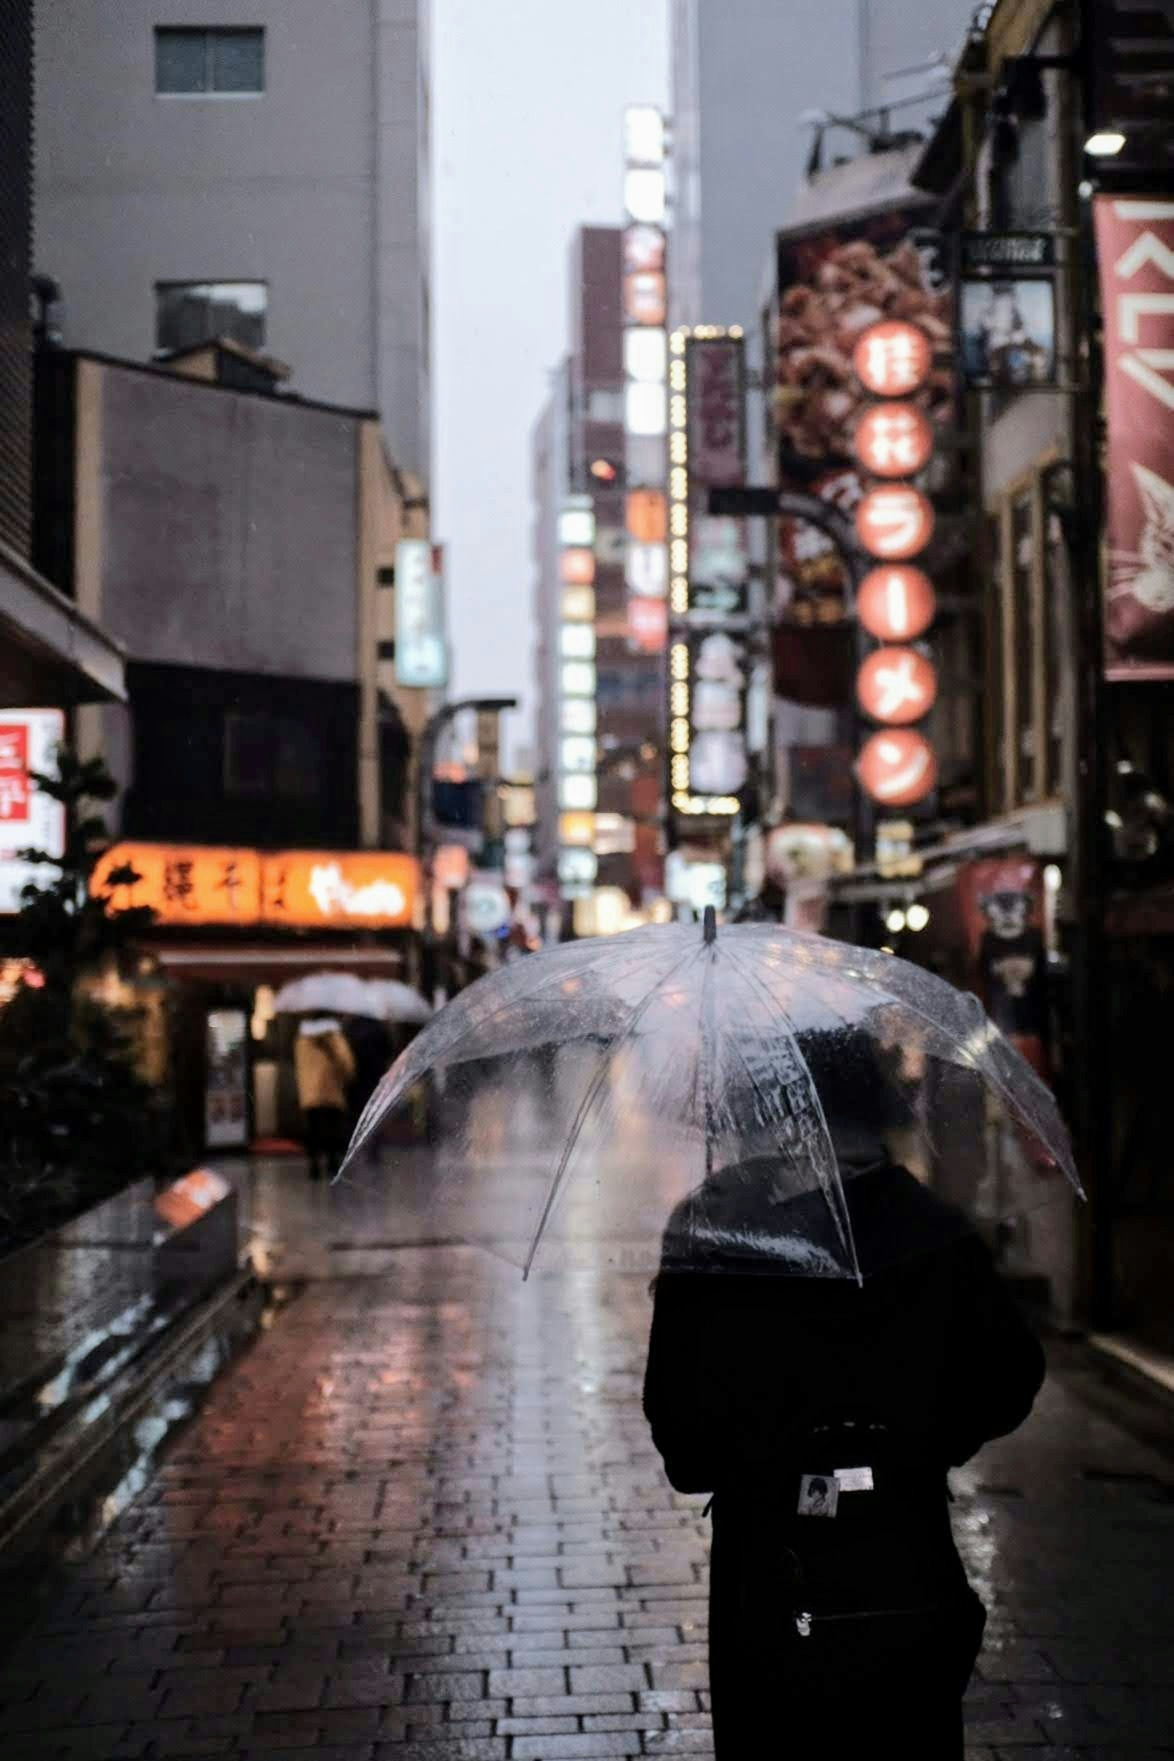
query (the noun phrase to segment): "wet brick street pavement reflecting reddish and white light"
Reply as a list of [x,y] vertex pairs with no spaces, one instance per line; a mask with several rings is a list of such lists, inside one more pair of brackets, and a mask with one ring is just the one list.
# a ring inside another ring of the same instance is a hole
[[[641,1418],[646,1278],[364,1271],[276,1317],[0,1666],[4,1761],[711,1754],[708,1525]],[[1067,1368],[954,1488],[991,1606],[972,1761],[1174,1756],[1169,1458]]]

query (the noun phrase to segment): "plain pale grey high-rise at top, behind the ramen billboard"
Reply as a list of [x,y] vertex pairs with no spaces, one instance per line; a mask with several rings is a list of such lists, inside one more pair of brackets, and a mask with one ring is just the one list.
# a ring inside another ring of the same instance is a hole
[[[753,336],[766,239],[790,218],[817,118],[892,106],[894,132],[919,127],[972,12],[973,0],[672,0],[672,326]],[[852,130],[827,130],[827,158],[857,150]]]

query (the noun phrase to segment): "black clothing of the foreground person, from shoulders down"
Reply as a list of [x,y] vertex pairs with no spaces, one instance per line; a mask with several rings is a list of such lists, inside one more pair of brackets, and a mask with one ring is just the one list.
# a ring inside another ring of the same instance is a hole
[[[764,1676],[783,1685],[783,1722],[803,1717],[808,1689],[792,1671],[787,1701],[781,1662],[780,1618],[796,1594],[829,1611],[950,1599],[979,1606],[950,1534],[947,1469],[1014,1430],[1044,1377],[1035,1335],[959,1213],[887,1162],[848,1178],[845,1194],[862,1284],[736,1270],[723,1252],[713,1254],[709,1270],[683,1270],[699,1210],[708,1222],[715,1215],[706,1189],[678,1208],[665,1231],[644,1412],[672,1486],[713,1493],[709,1632],[720,1757],[767,1752],[764,1743],[776,1738],[780,1710],[764,1699]],[[827,1227],[825,1201],[811,1196],[789,1208],[796,1234],[804,1210],[813,1227]],[[797,1514],[804,1474],[864,1465],[875,1493],[841,1495],[833,1522]],[[783,1581],[792,1567],[801,1592]],[[980,1625],[961,1639],[963,1650],[970,1647],[961,1680],[979,1632]],[[850,1685],[845,1680],[845,1691]],[[855,1726],[834,1722],[855,1715],[852,1694],[841,1699],[831,1728],[825,1706],[811,1713],[824,1752],[827,1740],[857,1736]],[[906,1710],[891,1733],[871,1706],[868,1736],[891,1735],[906,1756],[961,1756],[959,1699],[958,1685],[943,1678],[935,1692],[929,1680],[921,1710]]]

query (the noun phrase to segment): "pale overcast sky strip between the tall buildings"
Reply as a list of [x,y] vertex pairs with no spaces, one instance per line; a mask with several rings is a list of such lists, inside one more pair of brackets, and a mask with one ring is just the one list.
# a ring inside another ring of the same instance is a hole
[[667,0],[433,0],[433,532],[452,696],[533,726],[530,431],[574,229],[618,224],[625,104],[667,102]]

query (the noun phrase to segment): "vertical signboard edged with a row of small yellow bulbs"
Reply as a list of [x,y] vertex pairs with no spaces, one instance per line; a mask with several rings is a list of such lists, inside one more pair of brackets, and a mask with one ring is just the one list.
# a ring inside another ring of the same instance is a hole
[[741,329],[674,331],[669,366],[669,805],[681,836],[727,831],[748,778],[745,521],[708,512],[746,481]]

